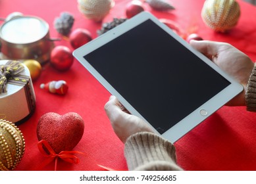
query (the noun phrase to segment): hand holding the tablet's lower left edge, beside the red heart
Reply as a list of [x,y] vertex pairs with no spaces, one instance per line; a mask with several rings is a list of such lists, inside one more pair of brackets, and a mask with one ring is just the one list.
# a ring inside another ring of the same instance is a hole
[[131,115],[115,96],[109,98],[104,108],[116,135],[123,143],[134,133],[141,131],[153,132],[151,127],[143,120],[137,116]]

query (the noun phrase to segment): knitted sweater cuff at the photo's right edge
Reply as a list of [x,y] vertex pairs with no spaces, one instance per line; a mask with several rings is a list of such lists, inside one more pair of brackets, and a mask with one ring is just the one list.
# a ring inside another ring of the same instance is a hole
[[245,102],[247,110],[256,112],[256,64],[254,65],[251,76],[249,77],[245,93]]

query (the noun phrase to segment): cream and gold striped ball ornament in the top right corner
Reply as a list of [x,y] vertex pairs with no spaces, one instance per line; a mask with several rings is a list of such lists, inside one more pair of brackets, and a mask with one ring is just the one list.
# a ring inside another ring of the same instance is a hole
[[201,17],[216,32],[226,32],[238,23],[240,5],[235,0],[206,0]]

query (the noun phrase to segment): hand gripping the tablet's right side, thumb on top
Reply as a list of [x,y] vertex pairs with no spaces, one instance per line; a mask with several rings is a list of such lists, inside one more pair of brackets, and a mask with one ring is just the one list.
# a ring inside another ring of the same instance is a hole
[[254,66],[251,59],[228,43],[192,40],[190,45],[213,60],[218,67],[243,85],[243,92],[227,105],[245,105],[245,90]]

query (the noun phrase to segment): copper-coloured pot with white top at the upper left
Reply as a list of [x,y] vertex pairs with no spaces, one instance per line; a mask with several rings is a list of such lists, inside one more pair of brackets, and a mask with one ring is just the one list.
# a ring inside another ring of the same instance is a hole
[[35,59],[47,62],[54,47],[49,36],[49,24],[36,16],[17,16],[0,28],[2,59]]

